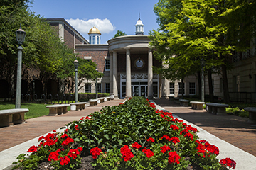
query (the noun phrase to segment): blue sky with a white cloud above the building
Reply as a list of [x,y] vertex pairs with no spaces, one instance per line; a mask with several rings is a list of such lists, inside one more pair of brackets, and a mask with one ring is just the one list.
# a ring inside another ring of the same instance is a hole
[[65,18],[84,38],[96,26],[101,44],[114,37],[117,30],[134,35],[135,24],[140,18],[144,34],[159,28],[153,11],[158,0],[34,0],[31,11],[44,18]]

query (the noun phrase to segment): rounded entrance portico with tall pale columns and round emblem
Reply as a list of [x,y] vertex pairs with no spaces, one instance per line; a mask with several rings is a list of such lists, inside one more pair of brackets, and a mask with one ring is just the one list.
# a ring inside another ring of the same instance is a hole
[[[112,88],[110,93],[114,94],[114,98],[118,96],[120,98],[132,96],[153,98],[153,55],[149,49],[148,35],[126,35],[112,38],[108,44],[110,70],[113,70],[110,72],[110,87]],[[154,81],[158,86],[159,79]],[[159,94],[159,91],[156,93]]]

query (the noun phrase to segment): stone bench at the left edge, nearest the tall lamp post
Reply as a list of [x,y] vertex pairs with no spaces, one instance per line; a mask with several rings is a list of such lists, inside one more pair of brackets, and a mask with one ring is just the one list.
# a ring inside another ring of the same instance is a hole
[[0,110],[0,127],[13,126],[14,124],[25,123],[25,112],[28,108],[14,108]]

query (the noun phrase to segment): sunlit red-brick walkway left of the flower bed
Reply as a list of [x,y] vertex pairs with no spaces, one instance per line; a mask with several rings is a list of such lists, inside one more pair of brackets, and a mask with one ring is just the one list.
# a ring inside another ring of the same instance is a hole
[[82,116],[90,115],[95,111],[100,111],[102,106],[115,106],[122,103],[122,99],[99,103],[97,106],[87,107],[82,111],[68,111],[64,115],[58,116],[42,116],[39,118],[31,118],[26,123],[14,125],[11,127],[0,128],[0,152],[4,149],[14,147],[18,144],[32,140],[43,134],[51,132],[65,126],[73,120],[79,120]]

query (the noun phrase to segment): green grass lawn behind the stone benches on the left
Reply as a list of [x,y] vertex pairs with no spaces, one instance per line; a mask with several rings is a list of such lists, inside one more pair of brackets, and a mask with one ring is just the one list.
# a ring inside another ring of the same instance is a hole
[[[0,110],[15,108],[14,103],[4,103],[0,102]],[[46,108],[44,104],[35,104],[35,103],[21,103],[21,108],[28,108],[28,112],[25,113],[25,120],[29,118],[37,118],[43,115],[49,114],[49,109]],[[68,107],[70,111],[70,106]]]

